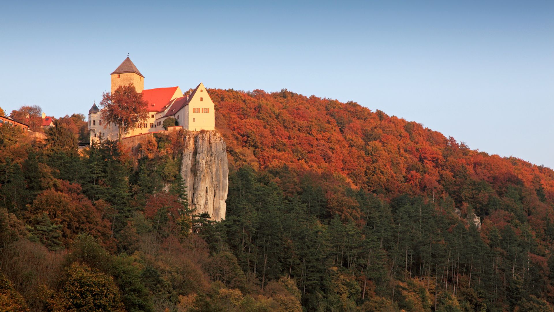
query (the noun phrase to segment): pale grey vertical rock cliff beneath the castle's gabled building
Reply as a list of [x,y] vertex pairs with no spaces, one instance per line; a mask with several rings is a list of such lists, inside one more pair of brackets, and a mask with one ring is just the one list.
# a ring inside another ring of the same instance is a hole
[[196,213],[207,212],[216,221],[225,219],[229,167],[226,145],[217,131],[188,132],[185,137],[181,175],[189,205]]

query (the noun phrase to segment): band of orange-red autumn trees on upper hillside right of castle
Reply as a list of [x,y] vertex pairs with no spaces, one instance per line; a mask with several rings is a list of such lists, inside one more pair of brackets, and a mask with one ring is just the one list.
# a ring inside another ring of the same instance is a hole
[[325,176],[321,182],[343,177],[353,188],[386,199],[452,198],[454,207],[470,206],[483,217],[499,209],[524,220],[551,212],[554,171],[542,165],[471,150],[417,122],[355,102],[286,89],[210,94],[217,129],[237,167],[288,167],[298,175]]

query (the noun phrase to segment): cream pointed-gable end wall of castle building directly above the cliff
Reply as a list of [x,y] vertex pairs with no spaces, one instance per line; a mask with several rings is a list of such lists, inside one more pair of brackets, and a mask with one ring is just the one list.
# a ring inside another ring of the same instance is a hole
[[[208,113],[206,113],[206,109]],[[187,112],[183,114],[183,118],[186,122],[182,125],[185,129],[191,131],[216,129],[214,104],[203,83],[200,83],[192,99],[182,110],[187,110]]]

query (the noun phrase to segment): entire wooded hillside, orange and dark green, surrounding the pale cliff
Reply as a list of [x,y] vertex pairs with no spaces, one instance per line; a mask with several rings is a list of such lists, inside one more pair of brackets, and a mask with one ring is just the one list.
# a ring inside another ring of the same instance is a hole
[[130,153],[0,126],[0,310],[554,311],[551,169],[353,102],[208,92],[217,223],[187,205],[183,131]]

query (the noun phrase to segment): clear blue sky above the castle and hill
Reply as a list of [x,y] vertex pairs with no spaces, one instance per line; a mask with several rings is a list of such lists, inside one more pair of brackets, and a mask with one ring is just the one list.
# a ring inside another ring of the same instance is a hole
[[0,10],[0,107],[88,114],[145,88],[352,100],[554,168],[554,1],[25,2]]

